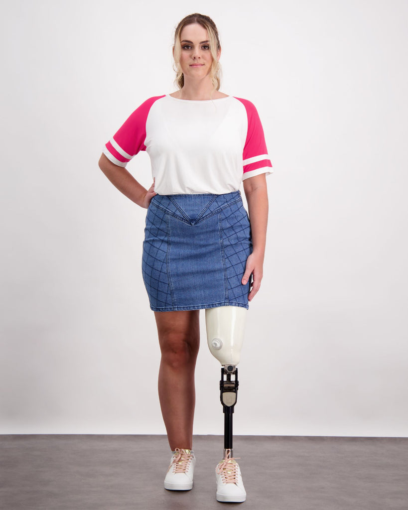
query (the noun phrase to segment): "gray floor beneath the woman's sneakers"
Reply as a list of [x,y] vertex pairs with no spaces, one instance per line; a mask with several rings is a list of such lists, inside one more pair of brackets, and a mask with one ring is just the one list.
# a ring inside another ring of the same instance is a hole
[[215,500],[221,436],[195,436],[192,491],[163,488],[165,436],[0,436],[2,510],[407,510],[408,438],[236,436],[244,503]]

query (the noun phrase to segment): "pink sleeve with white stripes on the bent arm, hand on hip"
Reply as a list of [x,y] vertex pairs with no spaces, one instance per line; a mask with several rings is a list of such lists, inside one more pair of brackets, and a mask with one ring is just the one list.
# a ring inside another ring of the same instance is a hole
[[164,96],[150,97],[142,103],[119,127],[103,150],[115,165],[125,167],[139,152],[146,150],[146,120],[152,104]]

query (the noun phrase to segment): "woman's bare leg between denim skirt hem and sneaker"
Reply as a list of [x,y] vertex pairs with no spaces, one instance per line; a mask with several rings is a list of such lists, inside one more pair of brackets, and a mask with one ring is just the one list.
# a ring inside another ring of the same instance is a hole
[[155,312],[162,358],[159,399],[171,450],[193,447],[199,310]]

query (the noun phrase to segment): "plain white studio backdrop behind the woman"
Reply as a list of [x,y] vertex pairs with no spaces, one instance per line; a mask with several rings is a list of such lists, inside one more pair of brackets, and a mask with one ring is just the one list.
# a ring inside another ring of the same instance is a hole
[[[99,170],[170,93],[175,25],[218,25],[221,91],[274,173],[236,434],[407,436],[407,14],[401,1],[2,2],[1,433],[165,433],[146,211]],[[145,153],[128,166],[151,183]],[[223,433],[204,313],[194,433]]]

